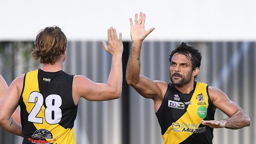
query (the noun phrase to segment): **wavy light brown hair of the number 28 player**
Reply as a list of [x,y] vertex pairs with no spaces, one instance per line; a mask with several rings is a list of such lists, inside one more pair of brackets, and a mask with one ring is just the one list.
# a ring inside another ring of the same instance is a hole
[[67,47],[67,37],[58,26],[46,27],[39,31],[35,39],[35,48],[31,55],[39,63],[54,63],[61,57]]

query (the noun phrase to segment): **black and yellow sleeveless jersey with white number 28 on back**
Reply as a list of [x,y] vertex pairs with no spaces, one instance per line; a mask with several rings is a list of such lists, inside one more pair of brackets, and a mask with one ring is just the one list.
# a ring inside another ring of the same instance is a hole
[[25,74],[19,99],[22,144],[75,144],[73,77],[62,70]]

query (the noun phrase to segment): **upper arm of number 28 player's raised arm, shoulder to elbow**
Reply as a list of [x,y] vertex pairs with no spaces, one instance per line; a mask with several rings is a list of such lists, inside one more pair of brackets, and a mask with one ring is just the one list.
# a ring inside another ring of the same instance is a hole
[[91,101],[104,101],[120,98],[121,93],[105,83],[95,83],[85,76],[74,76],[72,94],[75,103],[83,97]]

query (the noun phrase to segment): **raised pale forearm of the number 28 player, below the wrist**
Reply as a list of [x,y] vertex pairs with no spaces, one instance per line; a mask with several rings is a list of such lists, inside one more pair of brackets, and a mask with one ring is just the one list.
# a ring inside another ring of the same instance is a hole
[[111,70],[107,84],[111,86],[113,94],[119,98],[122,92],[122,54],[112,56]]

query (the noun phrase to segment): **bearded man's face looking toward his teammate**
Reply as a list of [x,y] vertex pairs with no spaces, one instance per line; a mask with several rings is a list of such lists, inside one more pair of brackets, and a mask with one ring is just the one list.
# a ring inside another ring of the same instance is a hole
[[170,79],[174,85],[183,86],[191,81],[192,61],[186,55],[174,54],[170,63]]

